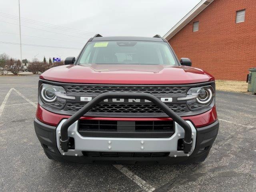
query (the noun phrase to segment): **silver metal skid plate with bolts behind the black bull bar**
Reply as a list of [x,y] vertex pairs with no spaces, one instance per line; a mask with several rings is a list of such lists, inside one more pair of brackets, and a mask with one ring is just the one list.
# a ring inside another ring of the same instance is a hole
[[74,138],[75,149],[63,152],[60,148],[60,128],[66,119],[56,128],[58,150],[62,155],[82,156],[82,151],[98,152],[170,152],[170,156],[187,156],[192,154],[196,146],[196,128],[190,121],[186,121],[192,129],[192,148],[188,154],[177,151],[178,140],[184,138],[184,129],[176,122],[175,132],[168,138],[112,138],[112,137],[84,137],[78,133],[78,121],[68,128],[68,136]]

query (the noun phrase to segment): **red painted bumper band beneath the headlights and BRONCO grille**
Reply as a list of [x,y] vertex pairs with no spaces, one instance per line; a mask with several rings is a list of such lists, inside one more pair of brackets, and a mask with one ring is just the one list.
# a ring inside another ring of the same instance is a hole
[[[69,118],[67,115],[55,114],[42,108],[39,104],[37,105],[36,118],[48,125],[57,126],[60,120]],[[208,112],[205,112],[196,116],[182,117],[184,120],[190,120],[193,124],[198,127],[207,126],[217,120],[216,107],[214,106]],[[90,120],[120,120],[120,121],[166,121],[172,120],[171,118],[106,118],[106,117],[81,117],[80,119]]]

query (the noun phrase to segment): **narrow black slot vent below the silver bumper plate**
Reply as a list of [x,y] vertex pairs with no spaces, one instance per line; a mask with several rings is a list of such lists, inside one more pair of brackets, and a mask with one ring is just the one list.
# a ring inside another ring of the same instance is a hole
[[167,157],[170,152],[94,152],[82,151],[87,157]]

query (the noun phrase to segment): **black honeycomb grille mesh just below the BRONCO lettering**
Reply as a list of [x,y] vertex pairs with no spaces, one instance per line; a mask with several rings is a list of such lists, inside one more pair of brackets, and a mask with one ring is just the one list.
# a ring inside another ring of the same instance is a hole
[[[77,112],[85,103],[67,103],[64,110]],[[176,113],[188,112],[186,104],[167,104]],[[97,104],[89,113],[164,113],[154,104]]]

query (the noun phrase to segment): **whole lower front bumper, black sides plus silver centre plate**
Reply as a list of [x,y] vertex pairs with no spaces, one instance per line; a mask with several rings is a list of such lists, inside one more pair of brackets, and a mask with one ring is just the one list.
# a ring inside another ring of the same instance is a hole
[[[179,138],[184,137],[183,128],[178,124],[175,126],[175,134],[170,138],[96,138],[83,137],[77,132],[76,123],[72,124],[68,129],[68,136],[75,137],[75,149],[63,152],[60,149],[58,134],[60,124],[55,126],[46,125],[37,119],[34,120],[36,135],[40,140],[46,155],[55,160],[64,162],[79,162],[79,163],[140,163],[140,162],[158,162],[158,163],[182,163],[182,162],[197,162],[203,161],[218,134],[219,122],[195,128],[194,125],[187,121],[194,134],[192,139],[192,150],[187,154],[183,151],[177,151],[177,142]],[[74,134],[72,134],[72,132]],[[180,137],[178,136],[180,134]],[[109,144],[110,141],[110,144]],[[141,141],[144,144],[141,144]],[[111,149],[109,149],[111,146]],[[143,150],[141,147],[144,147]],[[101,152],[170,152],[169,156],[165,157],[88,157],[84,156],[82,151],[101,151]],[[65,153],[63,155],[63,153]]]

